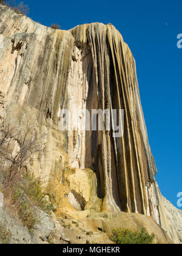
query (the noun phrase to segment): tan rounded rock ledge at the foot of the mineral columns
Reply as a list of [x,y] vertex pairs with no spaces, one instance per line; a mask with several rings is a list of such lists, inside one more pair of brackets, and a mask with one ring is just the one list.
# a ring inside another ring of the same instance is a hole
[[154,243],[172,243],[167,233],[151,217],[124,212],[88,213],[88,211],[77,212],[79,218],[75,218],[76,216],[70,219],[59,218],[70,243],[110,244],[112,241],[106,234],[111,234],[113,228],[138,229],[138,227],[145,227],[151,235],[155,233]]

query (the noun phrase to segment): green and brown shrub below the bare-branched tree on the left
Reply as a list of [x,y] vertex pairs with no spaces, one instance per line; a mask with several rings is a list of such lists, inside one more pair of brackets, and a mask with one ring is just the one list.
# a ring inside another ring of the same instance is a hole
[[38,207],[48,214],[53,209],[53,205],[45,199],[41,179],[30,176],[27,172],[13,172],[11,178],[5,179],[3,188],[4,206],[8,212],[20,219],[30,232],[39,222]]

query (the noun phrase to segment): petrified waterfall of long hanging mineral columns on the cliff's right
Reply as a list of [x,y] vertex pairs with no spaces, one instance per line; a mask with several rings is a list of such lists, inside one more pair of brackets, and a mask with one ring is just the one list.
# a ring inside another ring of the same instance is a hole
[[[140,104],[135,60],[111,24],[86,24],[70,32],[75,38],[73,55],[76,55],[68,84],[71,102],[75,103],[78,97],[78,105],[90,111],[124,109],[123,137],[113,138],[105,130],[76,135],[75,140],[81,138],[86,152],[78,160],[83,168],[95,169],[98,197],[106,197],[108,210],[150,215],[146,186],[155,180],[156,168]],[[70,144],[72,148],[73,141]]]

